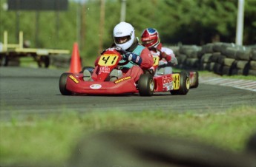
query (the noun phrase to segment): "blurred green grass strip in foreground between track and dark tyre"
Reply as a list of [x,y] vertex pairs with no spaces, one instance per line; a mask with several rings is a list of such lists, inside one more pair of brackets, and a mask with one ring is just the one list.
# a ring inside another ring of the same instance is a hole
[[256,107],[242,106],[226,112],[198,115],[191,112],[91,112],[63,113],[44,118],[15,117],[0,123],[0,165],[62,164],[84,134],[109,130],[185,137],[223,149],[243,151],[256,127]]

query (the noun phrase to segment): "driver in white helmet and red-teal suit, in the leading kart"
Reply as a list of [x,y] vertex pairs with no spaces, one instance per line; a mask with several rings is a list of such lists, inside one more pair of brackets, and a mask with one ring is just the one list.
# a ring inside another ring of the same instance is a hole
[[[134,31],[134,27],[127,22],[120,22],[114,27],[114,44],[112,45],[112,48],[119,47],[122,50],[127,51],[127,53],[122,55],[124,59],[122,61],[129,62],[128,64],[119,66],[119,69],[114,69],[110,74],[110,81],[131,76],[136,82],[139,80],[140,75],[143,74],[143,69],[150,69],[154,64],[150,50],[139,44]],[[98,64],[99,57],[96,58],[95,66]],[[99,69],[97,69],[96,66],[92,76],[90,76],[91,74],[85,69],[84,81],[93,81],[93,78],[96,78],[98,71]]]

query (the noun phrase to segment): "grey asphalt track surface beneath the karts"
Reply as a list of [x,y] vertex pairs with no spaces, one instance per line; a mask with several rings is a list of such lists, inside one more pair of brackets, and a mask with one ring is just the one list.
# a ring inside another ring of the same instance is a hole
[[[0,119],[13,115],[48,115],[60,112],[223,112],[230,107],[255,106],[256,92],[230,86],[200,83],[187,95],[157,93],[140,95],[64,96],[59,92],[57,69],[0,67]],[[203,78],[200,78],[203,81]]]

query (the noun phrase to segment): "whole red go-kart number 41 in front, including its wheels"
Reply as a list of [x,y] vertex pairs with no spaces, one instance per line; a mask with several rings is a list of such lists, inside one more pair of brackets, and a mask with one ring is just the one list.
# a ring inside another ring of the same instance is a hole
[[[118,68],[122,60],[123,50],[111,48],[105,50],[97,64],[101,70],[93,81],[84,81],[83,73],[63,73],[59,78],[59,90],[62,95],[120,95],[125,93],[139,93],[151,96],[154,92],[171,92],[171,95],[186,95],[191,86],[198,86],[197,72],[175,72],[166,75],[154,75],[150,70],[140,75],[139,81],[131,76],[125,76],[116,81],[109,81],[113,69]],[[154,67],[159,59],[154,57]],[[192,80],[194,80],[192,82]],[[192,85],[191,85],[192,83]]]

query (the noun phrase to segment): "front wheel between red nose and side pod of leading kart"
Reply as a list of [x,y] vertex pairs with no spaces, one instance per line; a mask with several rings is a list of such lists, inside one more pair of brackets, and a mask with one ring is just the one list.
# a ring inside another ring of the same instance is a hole
[[154,93],[154,79],[151,74],[140,75],[138,83],[139,93],[142,96],[151,96]]

